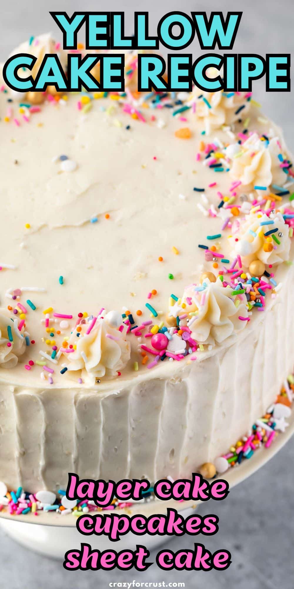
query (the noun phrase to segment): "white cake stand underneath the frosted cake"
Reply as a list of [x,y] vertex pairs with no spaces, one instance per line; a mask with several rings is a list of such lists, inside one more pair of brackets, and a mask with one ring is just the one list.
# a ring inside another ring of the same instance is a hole
[[[270,448],[260,448],[248,461],[243,461],[240,466],[230,469],[221,478],[229,482],[230,488],[238,485],[244,479],[250,477],[261,466],[266,464],[279,450],[286,444],[294,433],[294,415],[289,419],[289,427]],[[138,513],[148,517],[152,514],[164,514],[167,507],[178,509],[183,517],[188,517],[196,510],[199,503],[193,501],[183,504],[176,501],[151,501],[147,504],[139,504],[132,508],[132,514]],[[119,510],[116,510],[118,513]],[[125,510],[121,510],[121,513]],[[76,530],[76,518],[73,515],[62,516],[52,512],[38,512],[38,517],[34,514],[27,515],[10,515],[6,512],[0,512],[0,525],[2,530],[14,538],[16,542],[31,548],[39,554],[51,558],[61,558],[64,560],[65,552],[69,549],[79,548],[85,537]],[[34,527],[33,527],[34,526]],[[119,541],[119,550],[134,549],[136,544],[144,544],[149,551],[158,547],[162,542],[166,542],[170,537],[149,536],[147,534],[140,537],[129,532],[121,537]],[[108,537],[90,535],[89,544],[96,550],[112,549],[115,544],[108,540]]]

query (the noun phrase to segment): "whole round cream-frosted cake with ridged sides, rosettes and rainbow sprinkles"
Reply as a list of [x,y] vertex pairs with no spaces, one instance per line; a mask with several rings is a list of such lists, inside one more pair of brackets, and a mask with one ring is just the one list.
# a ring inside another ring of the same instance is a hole
[[[49,35],[19,51],[66,63]],[[283,382],[292,400],[281,131],[250,93],[140,94],[135,53],[125,75],[121,94],[0,82],[8,489],[223,472]]]

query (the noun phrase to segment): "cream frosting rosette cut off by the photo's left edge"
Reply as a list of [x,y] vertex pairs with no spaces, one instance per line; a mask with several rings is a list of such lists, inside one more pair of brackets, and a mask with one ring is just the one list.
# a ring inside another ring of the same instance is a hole
[[0,309],[0,366],[15,368],[26,348],[24,326],[16,317],[12,319],[6,309]]

